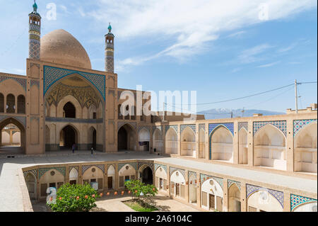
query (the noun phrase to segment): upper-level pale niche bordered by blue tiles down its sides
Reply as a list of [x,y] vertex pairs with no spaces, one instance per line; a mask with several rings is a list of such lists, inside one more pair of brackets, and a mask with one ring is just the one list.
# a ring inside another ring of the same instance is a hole
[[219,126],[210,135],[211,159],[233,162],[233,137],[228,128]]

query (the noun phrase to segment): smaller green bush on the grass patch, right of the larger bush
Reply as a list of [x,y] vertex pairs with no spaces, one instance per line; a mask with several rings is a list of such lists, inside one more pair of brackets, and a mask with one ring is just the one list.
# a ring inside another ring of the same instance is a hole
[[125,186],[131,192],[131,196],[143,206],[153,205],[153,196],[158,193],[158,189],[152,184],[144,184],[139,180],[125,181]]

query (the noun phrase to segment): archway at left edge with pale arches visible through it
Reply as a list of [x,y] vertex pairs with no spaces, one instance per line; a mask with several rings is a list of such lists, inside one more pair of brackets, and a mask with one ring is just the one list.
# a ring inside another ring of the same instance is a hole
[[15,118],[0,122],[0,154],[25,153],[25,128]]

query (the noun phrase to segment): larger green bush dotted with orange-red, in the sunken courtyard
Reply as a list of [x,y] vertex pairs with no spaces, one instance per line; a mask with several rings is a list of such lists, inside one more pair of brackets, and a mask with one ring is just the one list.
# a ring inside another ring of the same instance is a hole
[[98,193],[90,184],[66,183],[57,190],[57,200],[47,204],[54,212],[88,212],[96,207]]

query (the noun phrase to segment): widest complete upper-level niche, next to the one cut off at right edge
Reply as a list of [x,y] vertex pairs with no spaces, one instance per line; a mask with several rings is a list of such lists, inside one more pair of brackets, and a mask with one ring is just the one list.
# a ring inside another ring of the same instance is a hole
[[286,169],[285,135],[271,124],[254,135],[254,166]]

